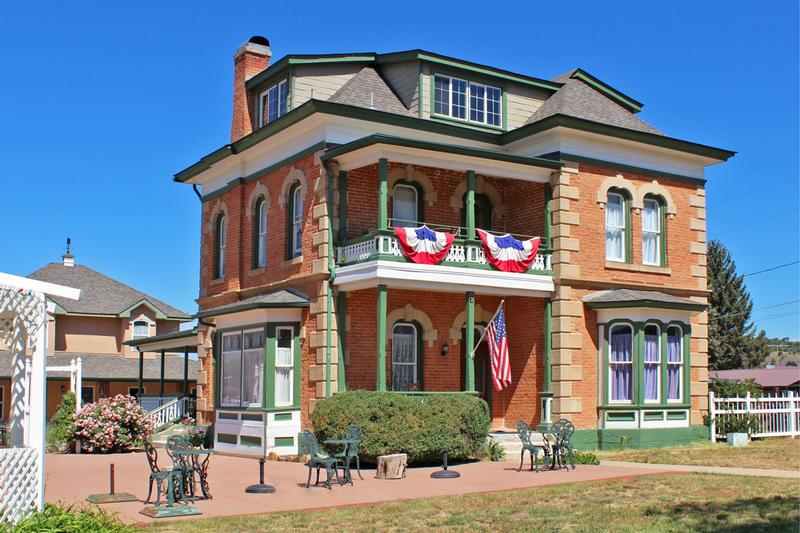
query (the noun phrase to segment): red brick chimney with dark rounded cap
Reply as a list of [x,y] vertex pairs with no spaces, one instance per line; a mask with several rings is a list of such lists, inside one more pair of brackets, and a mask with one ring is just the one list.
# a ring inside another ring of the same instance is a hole
[[257,95],[250,95],[244,84],[269,66],[272,52],[266,37],[250,37],[233,56],[233,122],[231,142],[253,131]]

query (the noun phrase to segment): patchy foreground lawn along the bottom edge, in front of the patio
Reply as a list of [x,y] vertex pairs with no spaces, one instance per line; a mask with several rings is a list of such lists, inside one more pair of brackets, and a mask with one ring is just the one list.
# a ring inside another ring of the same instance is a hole
[[712,474],[641,476],[230,518],[154,531],[797,531],[800,484]]

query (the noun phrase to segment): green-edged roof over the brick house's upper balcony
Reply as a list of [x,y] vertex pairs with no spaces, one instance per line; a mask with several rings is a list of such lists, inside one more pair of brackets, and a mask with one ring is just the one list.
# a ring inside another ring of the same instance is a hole
[[525,157],[496,150],[421,141],[374,134],[326,150],[322,161],[335,160],[340,170],[370,165],[385,157],[390,161],[435,166],[502,178],[546,181],[564,163],[539,157]]

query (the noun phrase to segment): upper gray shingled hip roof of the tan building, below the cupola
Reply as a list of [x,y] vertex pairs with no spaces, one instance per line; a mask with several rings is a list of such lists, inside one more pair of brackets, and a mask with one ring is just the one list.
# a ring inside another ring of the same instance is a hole
[[49,263],[28,277],[81,289],[79,300],[49,297],[67,313],[120,316],[138,304],[146,302],[163,313],[166,318],[184,320],[191,318],[180,309],[87,266]]

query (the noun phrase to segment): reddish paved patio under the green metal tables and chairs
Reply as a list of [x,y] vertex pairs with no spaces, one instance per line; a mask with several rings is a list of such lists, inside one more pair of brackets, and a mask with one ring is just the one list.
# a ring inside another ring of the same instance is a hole
[[[159,450],[162,452],[162,450]],[[166,454],[159,461],[166,466]],[[118,455],[47,455],[46,499],[48,502],[81,502],[90,494],[109,490],[109,464],[116,471],[116,492],[129,492],[138,498],[147,495],[149,469],[142,453]],[[517,463],[480,462],[453,467],[461,473],[458,479],[431,479],[437,468],[409,469],[402,480],[375,479],[375,470],[363,471],[364,480],[355,476],[354,486],[334,485],[332,490],[320,487],[306,489],[308,470],[298,463],[267,461],[267,483],[277,488],[275,494],[246,494],[244,488],[258,481],[258,462],[240,457],[214,456],[209,467],[209,483],[213,500],[195,505],[202,517],[232,516],[294,511],[374,502],[411,500],[466,493],[541,487],[561,483],[630,478],[665,473],[652,465],[625,466],[579,465],[577,470],[528,472],[516,471]],[[323,473],[324,474],[324,473]],[[139,514],[141,502],[108,504],[105,509],[117,511],[126,522],[151,522]],[[191,518],[184,518],[191,519]]]

